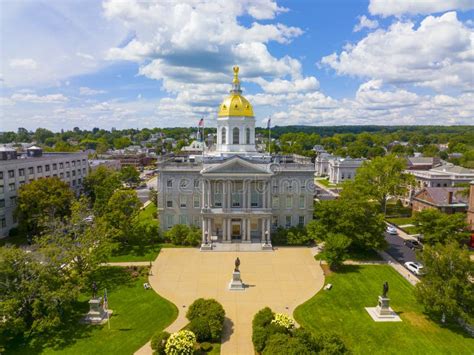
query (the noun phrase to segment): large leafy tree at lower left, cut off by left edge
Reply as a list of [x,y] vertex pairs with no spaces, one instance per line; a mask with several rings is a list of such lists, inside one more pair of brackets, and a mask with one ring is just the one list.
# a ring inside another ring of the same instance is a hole
[[80,285],[62,277],[61,268],[16,247],[0,248],[0,343],[47,335],[71,318]]

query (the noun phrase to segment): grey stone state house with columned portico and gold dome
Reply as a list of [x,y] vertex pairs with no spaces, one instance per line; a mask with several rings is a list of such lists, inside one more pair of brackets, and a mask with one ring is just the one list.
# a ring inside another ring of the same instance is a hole
[[242,96],[238,72],[234,67],[232,90],[219,106],[216,144],[200,155],[158,162],[162,231],[199,226],[203,245],[268,245],[277,227],[305,225],[313,217],[314,164],[257,151],[253,108]]

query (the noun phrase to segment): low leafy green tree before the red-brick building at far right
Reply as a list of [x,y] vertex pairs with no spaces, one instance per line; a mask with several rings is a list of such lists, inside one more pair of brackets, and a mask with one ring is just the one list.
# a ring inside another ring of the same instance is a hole
[[436,209],[426,209],[415,214],[416,231],[423,235],[426,244],[458,243],[469,237],[464,213],[446,214]]

